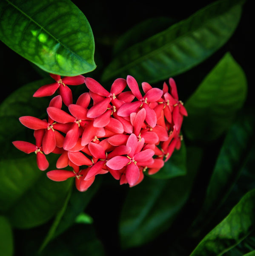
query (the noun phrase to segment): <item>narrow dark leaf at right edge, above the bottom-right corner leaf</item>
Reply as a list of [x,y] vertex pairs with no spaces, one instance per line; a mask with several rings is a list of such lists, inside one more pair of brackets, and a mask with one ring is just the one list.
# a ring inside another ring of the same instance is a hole
[[[218,155],[202,207],[203,215],[216,212],[238,180],[253,146],[255,121],[242,114],[229,129]],[[204,222],[204,221],[203,221]]]

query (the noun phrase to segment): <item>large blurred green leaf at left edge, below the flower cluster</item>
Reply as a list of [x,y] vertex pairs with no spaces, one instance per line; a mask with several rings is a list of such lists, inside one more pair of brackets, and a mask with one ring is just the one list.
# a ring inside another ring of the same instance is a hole
[[[73,181],[50,180],[37,168],[35,155],[32,157],[0,162],[1,210],[7,211],[11,225],[17,228],[49,221],[62,207]],[[56,158],[52,162],[55,165]]]

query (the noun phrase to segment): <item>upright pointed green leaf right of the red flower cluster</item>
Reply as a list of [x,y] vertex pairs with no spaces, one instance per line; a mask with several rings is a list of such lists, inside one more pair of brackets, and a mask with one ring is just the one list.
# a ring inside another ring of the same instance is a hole
[[226,53],[187,100],[183,131],[190,140],[217,139],[231,125],[246,99],[246,76]]

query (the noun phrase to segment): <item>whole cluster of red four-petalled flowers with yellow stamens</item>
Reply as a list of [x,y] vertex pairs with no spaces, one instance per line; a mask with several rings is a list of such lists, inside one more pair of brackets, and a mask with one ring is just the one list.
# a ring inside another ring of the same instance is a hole
[[[51,180],[75,177],[77,189],[86,191],[96,175],[109,172],[120,184],[135,186],[143,180],[145,170],[155,174],[175,148],[180,148],[180,129],[187,112],[172,78],[170,91],[166,83],[161,90],[143,82],[142,95],[132,76],[116,79],[110,92],[89,77],[51,76],[56,82],[34,93],[43,97],[59,91],[47,108],[48,119],[20,117],[23,125],[34,130],[35,145],[13,142],[27,154],[35,152],[42,171],[49,167],[47,154],[60,154],[57,169],[47,172]],[[73,104],[66,84],[83,83],[89,92]],[[129,91],[124,91],[126,85]],[[68,111],[62,109],[62,101]],[[66,170],[67,166],[72,171]]]

